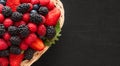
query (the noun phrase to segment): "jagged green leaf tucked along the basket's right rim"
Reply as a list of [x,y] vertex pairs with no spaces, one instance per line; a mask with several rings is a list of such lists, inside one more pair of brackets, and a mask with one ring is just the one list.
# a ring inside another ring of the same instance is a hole
[[53,39],[51,39],[51,40],[46,39],[46,40],[44,41],[44,43],[45,43],[46,46],[51,46],[52,44],[55,44],[55,41],[58,41],[58,40],[59,40],[58,37],[61,36],[61,34],[60,34],[61,28],[60,28],[60,22],[59,22],[59,21],[58,21],[57,25],[55,26],[55,30],[56,30],[56,35],[55,35],[55,37],[54,37]]

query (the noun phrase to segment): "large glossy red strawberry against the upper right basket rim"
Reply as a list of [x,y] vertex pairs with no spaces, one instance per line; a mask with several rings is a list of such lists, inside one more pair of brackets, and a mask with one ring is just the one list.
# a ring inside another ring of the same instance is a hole
[[61,12],[58,8],[54,8],[46,15],[47,26],[55,26],[57,24],[58,19],[60,18]]

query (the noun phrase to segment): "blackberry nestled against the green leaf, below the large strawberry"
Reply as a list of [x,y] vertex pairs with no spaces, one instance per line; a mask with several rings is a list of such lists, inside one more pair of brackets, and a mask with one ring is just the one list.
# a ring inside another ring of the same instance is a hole
[[52,39],[54,38],[54,36],[56,35],[56,30],[53,26],[48,26],[47,30],[46,30],[46,37],[48,39]]

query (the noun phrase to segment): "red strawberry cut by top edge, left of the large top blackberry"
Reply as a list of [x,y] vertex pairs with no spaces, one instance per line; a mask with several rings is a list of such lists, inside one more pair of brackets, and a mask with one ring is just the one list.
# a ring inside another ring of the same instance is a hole
[[18,5],[20,5],[20,0],[7,0],[6,2],[6,6],[9,6],[12,11],[16,11]]

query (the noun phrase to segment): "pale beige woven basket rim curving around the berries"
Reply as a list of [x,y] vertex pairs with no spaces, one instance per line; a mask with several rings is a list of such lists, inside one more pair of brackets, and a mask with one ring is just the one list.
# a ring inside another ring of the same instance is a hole
[[[55,4],[55,6],[57,8],[60,9],[61,11],[61,16],[59,18],[59,22],[60,22],[60,27],[62,28],[63,24],[64,24],[64,8],[63,8],[63,4],[60,0],[52,0]],[[49,46],[46,46],[42,51],[36,51],[34,53],[34,56],[31,60],[24,60],[21,62],[20,66],[31,66],[35,61],[37,61],[47,50],[48,50]]]

